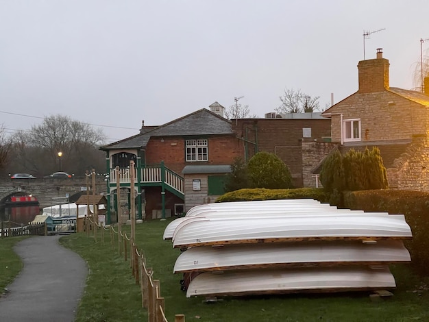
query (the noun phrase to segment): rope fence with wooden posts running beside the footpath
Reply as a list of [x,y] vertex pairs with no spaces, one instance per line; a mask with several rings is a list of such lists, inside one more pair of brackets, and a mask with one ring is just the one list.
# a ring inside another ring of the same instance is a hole
[[[110,242],[112,248],[118,249],[119,256],[123,256],[125,262],[130,257],[130,268],[132,269],[132,276],[136,284],[140,286],[142,308],[147,309],[148,322],[168,322],[165,317],[164,297],[161,297],[161,286],[159,280],[154,280],[154,270],[147,267],[146,258],[143,251],[138,251],[135,243],[132,243],[131,236],[127,236],[122,232],[121,227],[114,230],[113,226],[106,227],[102,223],[96,223],[93,216],[85,218],[88,222],[85,227],[93,227],[93,234],[95,243],[97,240],[97,230],[100,231],[99,236],[101,243],[104,246],[104,234],[110,232]],[[88,230],[87,234],[89,234]],[[115,246],[114,239],[117,236],[118,244]],[[127,248],[130,250],[127,250]],[[175,314],[174,322],[185,322],[184,314]]]

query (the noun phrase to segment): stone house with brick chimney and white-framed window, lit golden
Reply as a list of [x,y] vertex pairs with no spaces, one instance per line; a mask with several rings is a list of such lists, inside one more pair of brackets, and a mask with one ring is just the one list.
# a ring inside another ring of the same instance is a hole
[[428,81],[426,92],[391,87],[389,60],[377,49],[376,59],[358,63],[358,91],[322,112],[332,144],[341,151],[378,147],[390,188],[429,190]]

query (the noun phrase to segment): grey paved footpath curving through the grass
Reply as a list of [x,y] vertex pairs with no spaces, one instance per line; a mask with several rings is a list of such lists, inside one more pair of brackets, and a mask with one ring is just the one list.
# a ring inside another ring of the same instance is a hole
[[0,297],[1,322],[75,321],[88,267],[59,238],[34,236],[16,244],[23,269]]

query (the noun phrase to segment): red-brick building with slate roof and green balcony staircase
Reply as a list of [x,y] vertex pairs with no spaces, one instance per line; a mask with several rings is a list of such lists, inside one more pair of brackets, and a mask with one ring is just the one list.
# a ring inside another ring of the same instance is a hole
[[136,218],[182,213],[223,194],[225,175],[241,153],[241,141],[231,121],[219,115],[223,107],[214,103],[210,108],[218,114],[204,108],[156,127],[143,123],[139,134],[101,147],[110,173],[109,219],[118,209],[127,212],[133,202],[130,161],[135,164]]

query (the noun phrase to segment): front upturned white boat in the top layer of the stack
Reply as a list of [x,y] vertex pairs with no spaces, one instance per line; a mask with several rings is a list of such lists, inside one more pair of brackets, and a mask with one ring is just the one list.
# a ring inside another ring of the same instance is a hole
[[173,234],[173,247],[314,240],[412,238],[404,215],[313,215],[232,219],[195,217]]

